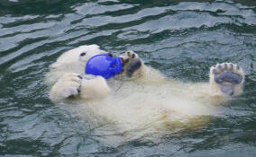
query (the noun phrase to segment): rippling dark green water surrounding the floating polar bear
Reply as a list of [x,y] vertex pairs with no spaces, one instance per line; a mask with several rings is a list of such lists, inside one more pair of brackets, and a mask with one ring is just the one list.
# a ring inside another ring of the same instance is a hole
[[[255,6],[253,0],[1,0],[0,155],[256,156]],[[72,106],[50,102],[43,83],[61,53],[84,44],[117,55],[133,49],[147,65],[185,82],[206,82],[210,65],[233,62],[244,69],[244,93],[218,107],[221,113],[192,119],[203,126],[176,124],[153,140],[117,143],[122,135],[106,137]]]

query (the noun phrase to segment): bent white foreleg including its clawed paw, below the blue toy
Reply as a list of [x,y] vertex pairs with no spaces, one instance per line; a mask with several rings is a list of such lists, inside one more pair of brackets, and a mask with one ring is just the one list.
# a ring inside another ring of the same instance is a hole
[[63,74],[50,90],[51,100],[63,100],[69,97],[82,99],[105,98],[110,89],[101,76],[75,73]]

